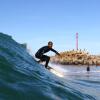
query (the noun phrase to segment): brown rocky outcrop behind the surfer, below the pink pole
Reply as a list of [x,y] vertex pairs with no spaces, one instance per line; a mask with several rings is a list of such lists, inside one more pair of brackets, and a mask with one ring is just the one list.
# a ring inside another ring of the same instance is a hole
[[51,62],[61,65],[93,65],[100,66],[100,56],[90,55],[84,50],[71,50],[60,53],[60,57],[51,57]]

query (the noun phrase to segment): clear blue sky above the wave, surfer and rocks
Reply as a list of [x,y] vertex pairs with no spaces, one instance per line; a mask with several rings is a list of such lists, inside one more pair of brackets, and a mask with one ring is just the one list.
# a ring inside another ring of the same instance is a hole
[[49,40],[59,52],[79,48],[100,54],[100,0],[0,0],[0,31],[35,53]]

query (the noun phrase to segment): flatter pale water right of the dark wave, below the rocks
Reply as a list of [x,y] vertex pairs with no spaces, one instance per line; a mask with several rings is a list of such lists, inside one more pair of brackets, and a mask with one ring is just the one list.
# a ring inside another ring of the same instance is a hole
[[[50,64],[56,70],[64,74],[64,83],[69,87],[87,95],[84,100],[100,100],[100,67],[90,66],[87,72],[87,66],[72,65],[54,65]],[[69,83],[67,83],[69,81]],[[92,96],[93,98],[91,98]]]

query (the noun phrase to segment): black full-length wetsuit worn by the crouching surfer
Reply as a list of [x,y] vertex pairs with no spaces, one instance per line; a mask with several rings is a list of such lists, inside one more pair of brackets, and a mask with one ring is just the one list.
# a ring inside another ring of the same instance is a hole
[[46,61],[46,64],[45,64],[46,68],[48,67],[48,63],[49,63],[50,57],[47,56],[47,55],[44,55],[44,53],[47,53],[49,51],[53,51],[57,55],[60,55],[56,50],[54,50],[52,48],[49,48],[48,46],[44,46],[44,47],[40,48],[35,54],[36,58],[40,59],[41,61]]

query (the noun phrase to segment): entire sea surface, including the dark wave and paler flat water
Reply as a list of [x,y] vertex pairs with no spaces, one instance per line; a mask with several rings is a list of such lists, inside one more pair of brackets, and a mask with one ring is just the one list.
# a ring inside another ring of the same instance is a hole
[[99,66],[50,66],[57,73],[0,33],[0,100],[100,100]]

